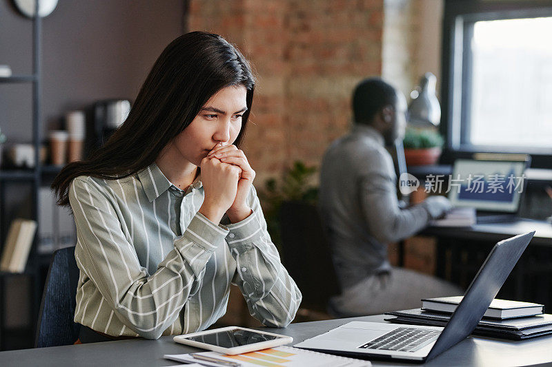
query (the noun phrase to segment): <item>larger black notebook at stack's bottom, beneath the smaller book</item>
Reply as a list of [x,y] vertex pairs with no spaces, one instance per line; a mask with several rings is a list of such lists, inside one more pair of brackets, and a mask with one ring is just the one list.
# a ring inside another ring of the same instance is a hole
[[[386,319],[386,321],[425,326],[445,326],[451,318],[451,315],[446,313],[424,311],[422,308],[393,311],[385,314],[395,316],[395,318]],[[516,319],[482,319],[475,327],[473,334],[514,340],[549,335],[552,334],[552,315],[544,313]]]

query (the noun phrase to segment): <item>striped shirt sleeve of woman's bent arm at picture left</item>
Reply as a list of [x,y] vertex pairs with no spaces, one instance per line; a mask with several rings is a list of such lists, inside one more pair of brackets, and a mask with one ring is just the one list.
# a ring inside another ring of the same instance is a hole
[[228,231],[197,213],[148,275],[128,242],[115,200],[92,178],[73,180],[69,200],[77,225],[77,264],[115,315],[135,333],[157,339],[199,290],[206,263]]

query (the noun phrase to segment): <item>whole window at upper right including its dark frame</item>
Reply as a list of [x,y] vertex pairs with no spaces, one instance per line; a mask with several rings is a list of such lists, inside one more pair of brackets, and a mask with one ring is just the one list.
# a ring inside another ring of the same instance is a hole
[[529,153],[533,167],[552,168],[552,8],[540,4],[446,1],[442,128],[450,151]]

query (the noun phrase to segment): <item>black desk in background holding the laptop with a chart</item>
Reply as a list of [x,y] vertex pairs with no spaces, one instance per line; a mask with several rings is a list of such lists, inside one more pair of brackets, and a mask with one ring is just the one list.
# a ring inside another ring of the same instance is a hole
[[552,311],[552,224],[542,220],[427,227],[418,235],[437,238],[435,275],[466,289],[496,242],[536,231],[498,298],[538,302]]

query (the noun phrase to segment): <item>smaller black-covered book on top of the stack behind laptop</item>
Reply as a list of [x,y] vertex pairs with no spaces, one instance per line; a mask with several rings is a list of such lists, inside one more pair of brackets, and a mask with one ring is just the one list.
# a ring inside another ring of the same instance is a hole
[[[422,300],[422,308],[428,311],[453,313],[456,306],[462,301],[462,296],[426,298]],[[499,300],[495,298],[491,306],[483,315],[484,318],[509,319],[513,317],[526,317],[544,313],[544,305],[531,302],[518,302]]]

